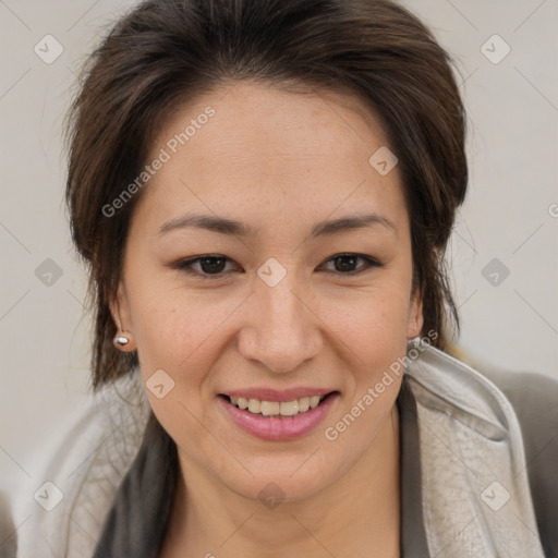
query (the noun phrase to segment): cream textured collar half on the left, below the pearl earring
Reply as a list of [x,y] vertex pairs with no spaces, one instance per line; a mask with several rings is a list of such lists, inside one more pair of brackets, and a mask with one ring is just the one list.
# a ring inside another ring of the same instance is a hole
[[10,487],[19,558],[88,556],[149,415],[138,375],[75,410],[28,457],[29,477]]

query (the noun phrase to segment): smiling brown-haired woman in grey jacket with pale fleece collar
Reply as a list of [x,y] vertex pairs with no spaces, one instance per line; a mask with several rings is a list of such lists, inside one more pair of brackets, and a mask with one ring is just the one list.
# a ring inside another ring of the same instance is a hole
[[464,110],[413,15],[143,2],[93,54],[69,145],[102,398],[19,556],[558,549],[557,449],[536,449],[557,383],[447,353]]

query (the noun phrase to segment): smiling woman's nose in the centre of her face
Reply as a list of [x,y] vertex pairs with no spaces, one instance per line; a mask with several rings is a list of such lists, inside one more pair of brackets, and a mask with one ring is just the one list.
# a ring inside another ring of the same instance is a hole
[[239,333],[238,350],[244,359],[275,373],[298,369],[319,354],[323,343],[322,322],[313,312],[311,298],[288,279],[290,275],[275,287],[256,281],[250,317]]

